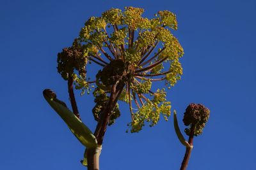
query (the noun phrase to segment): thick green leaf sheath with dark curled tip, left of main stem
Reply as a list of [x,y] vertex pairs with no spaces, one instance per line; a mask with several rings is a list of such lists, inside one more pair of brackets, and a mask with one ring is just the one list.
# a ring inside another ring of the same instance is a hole
[[68,125],[70,131],[76,136],[76,138],[84,145],[86,148],[97,147],[97,139],[93,135],[92,131],[86,125],[79,120],[79,118],[68,110],[65,103],[56,98],[56,94],[49,89],[45,89],[44,92],[45,100],[50,104],[50,106],[60,115],[64,122]]

